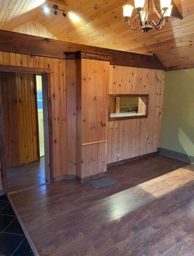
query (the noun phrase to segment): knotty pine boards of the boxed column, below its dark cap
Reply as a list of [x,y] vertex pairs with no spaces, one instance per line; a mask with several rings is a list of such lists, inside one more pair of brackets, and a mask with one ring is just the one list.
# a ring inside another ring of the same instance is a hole
[[81,68],[77,72],[77,131],[80,120],[81,131],[77,135],[77,166],[79,169],[81,160],[81,170],[77,175],[82,181],[85,177],[106,172],[110,63],[93,59],[78,61]]

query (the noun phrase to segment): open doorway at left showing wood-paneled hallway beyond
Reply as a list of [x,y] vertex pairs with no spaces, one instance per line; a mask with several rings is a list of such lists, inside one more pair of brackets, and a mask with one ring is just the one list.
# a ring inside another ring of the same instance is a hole
[[0,72],[0,94],[9,193],[47,184],[47,75]]

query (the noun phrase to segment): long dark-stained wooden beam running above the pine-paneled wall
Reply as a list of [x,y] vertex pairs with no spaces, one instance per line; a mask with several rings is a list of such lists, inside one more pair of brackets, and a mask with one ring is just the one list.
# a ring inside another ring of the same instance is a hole
[[110,54],[112,55],[112,60],[110,62],[111,65],[161,70],[165,69],[155,54],[144,55],[117,51],[0,30],[0,51],[3,52],[65,59],[64,52],[76,52],[80,50]]

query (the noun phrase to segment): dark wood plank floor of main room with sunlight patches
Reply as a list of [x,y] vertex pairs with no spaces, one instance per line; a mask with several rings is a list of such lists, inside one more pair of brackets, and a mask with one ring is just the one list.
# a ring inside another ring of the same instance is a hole
[[194,164],[109,168],[114,186],[58,181],[11,195],[41,256],[193,256]]

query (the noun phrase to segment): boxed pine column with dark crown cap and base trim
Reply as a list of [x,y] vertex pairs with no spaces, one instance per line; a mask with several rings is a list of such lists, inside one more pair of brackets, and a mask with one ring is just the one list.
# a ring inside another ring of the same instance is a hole
[[[107,175],[107,109],[111,55],[83,51],[66,53],[66,62],[73,69],[75,63],[69,62],[68,59],[74,59],[76,62],[76,174],[83,182]],[[67,80],[69,79],[67,74]],[[73,93],[72,85],[75,76],[71,79],[69,90]],[[73,97],[71,98],[73,101]],[[70,98],[69,101],[71,101]],[[69,115],[72,114],[69,113]],[[69,129],[70,127],[72,127],[71,123],[69,123]],[[74,145],[73,130],[72,127],[69,131],[72,135],[69,136],[71,141],[68,143],[69,146]],[[71,148],[72,146],[70,151]],[[73,154],[69,156],[68,166],[74,162],[74,158]],[[73,166],[69,168],[67,173],[74,169]]]

